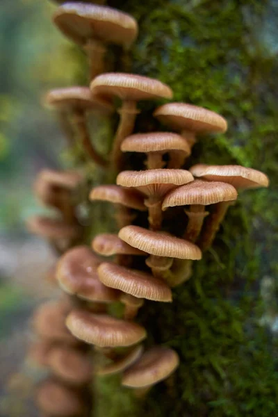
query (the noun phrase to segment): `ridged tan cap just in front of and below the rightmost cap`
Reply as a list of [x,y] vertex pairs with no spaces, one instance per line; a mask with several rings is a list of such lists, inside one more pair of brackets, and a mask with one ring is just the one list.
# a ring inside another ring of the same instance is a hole
[[236,188],[228,183],[218,181],[195,181],[170,191],[162,204],[162,209],[167,207],[187,206],[189,204],[200,204],[207,206],[219,202],[230,202],[237,198]]

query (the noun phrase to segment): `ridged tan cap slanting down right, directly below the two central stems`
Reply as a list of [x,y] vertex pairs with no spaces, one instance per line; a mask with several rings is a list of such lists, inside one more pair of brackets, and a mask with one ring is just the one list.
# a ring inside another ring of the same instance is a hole
[[123,227],[119,236],[129,245],[137,247],[148,254],[179,259],[201,259],[199,247],[187,240],[163,232],[143,229],[139,226]]

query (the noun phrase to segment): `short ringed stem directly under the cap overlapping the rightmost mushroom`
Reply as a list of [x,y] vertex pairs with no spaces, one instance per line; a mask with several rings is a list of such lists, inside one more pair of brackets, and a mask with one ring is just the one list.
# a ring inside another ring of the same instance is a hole
[[204,211],[204,209],[205,206],[202,204],[192,204],[189,211],[185,210],[185,213],[188,215],[188,225],[183,234],[184,239],[193,243],[196,242],[202,229],[204,218],[208,215],[208,211]]

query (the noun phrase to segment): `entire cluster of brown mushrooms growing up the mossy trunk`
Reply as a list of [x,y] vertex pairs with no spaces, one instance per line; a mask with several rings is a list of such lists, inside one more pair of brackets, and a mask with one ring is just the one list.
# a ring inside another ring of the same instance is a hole
[[[44,415],[66,417],[90,413],[95,377],[120,373],[122,385],[142,395],[174,372],[179,365],[174,350],[143,347],[147,329],[135,321],[138,310],[145,300],[172,302],[171,288],[190,278],[193,261],[211,247],[237,190],[266,187],[268,178],[238,165],[183,169],[197,136],[227,130],[224,118],[205,108],[163,104],[154,117],[174,132],[134,133],[138,101],[171,99],[172,90],[137,74],[104,73],[106,44],[126,50],[136,39],[133,17],[90,1],[72,1],[58,7],[54,23],[88,55],[90,88],[53,90],[45,102],[58,113],[69,146],[77,141],[86,158],[117,175],[116,183],[90,191],[90,201],[113,204],[118,228],[118,235],[95,236],[92,249],[83,245],[76,209],[83,176],[44,170],[35,181],[35,194],[59,217],[31,218],[28,229],[47,238],[61,255],[48,278],[66,295],[35,312],[38,340],[28,360],[48,370],[38,387],[38,407]],[[114,99],[122,101],[120,122],[106,158],[95,148],[86,115],[111,115]],[[124,170],[125,152],[146,154],[146,169]],[[175,236],[171,211],[178,206],[183,207],[184,227]],[[123,305],[122,318],[111,314],[115,302]]]

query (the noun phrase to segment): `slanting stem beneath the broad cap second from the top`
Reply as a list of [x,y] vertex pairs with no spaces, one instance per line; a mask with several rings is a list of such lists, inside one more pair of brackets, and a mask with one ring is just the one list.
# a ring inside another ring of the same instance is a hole
[[119,171],[122,169],[122,141],[126,136],[131,135],[134,129],[136,121],[136,115],[140,113],[137,109],[136,101],[123,101],[122,107],[118,111],[120,114],[120,122],[117,126],[117,132],[115,134],[113,149],[112,149],[112,160],[115,170]]

